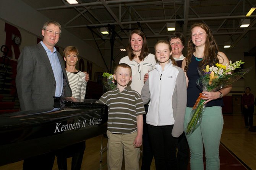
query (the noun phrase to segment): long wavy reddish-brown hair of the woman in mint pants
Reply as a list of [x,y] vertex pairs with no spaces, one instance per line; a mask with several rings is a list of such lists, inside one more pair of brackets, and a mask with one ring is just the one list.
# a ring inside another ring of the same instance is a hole
[[[212,35],[211,29],[203,23],[196,23],[193,24],[190,28],[190,37],[188,39],[188,55],[186,57],[186,66],[185,66],[185,72],[188,70],[188,65],[191,62],[191,57],[196,51],[196,46],[192,42],[191,34],[194,27],[200,27],[205,30],[206,32],[206,42],[204,47],[204,56],[203,60],[199,62],[199,68],[204,68],[206,65],[213,66],[216,63],[219,63],[219,58],[217,57],[217,52],[219,51],[219,48],[217,46],[217,43]],[[221,57],[221,56],[220,56]]]

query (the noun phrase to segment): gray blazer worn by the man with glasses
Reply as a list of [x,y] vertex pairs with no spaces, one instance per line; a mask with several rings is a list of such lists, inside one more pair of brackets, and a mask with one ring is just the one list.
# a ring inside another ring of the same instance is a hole
[[[58,59],[63,72],[62,97],[72,96],[65,65],[60,53]],[[19,55],[16,88],[21,111],[53,108],[56,82],[49,58],[39,42],[36,46],[24,47]]]

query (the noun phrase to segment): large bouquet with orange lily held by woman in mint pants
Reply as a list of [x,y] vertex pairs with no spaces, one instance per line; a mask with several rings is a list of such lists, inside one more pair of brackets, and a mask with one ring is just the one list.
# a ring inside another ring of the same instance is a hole
[[[222,88],[229,87],[232,85],[233,82],[240,79],[244,74],[250,71],[249,69],[243,69],[238,72],[234,72],[235,69],[240,68],[240,65],[244,62],[236,61],[232,63],[230,61],[230,65],[224,66],[222,64],[215,64],[215,66],[209,67],[206,66],[206,69],[199,71],[199,79],[196,80],[196,84],[202,88],[203,91],[218,91]],[[205,111],[205,102],[206,100],[201,99],[202,93],[199,94],[196,103],[190,114],[190,122],[185,129],[186,135],[190,135],[191,133],[199,127],[200,123],[202,122],[202,115]]]

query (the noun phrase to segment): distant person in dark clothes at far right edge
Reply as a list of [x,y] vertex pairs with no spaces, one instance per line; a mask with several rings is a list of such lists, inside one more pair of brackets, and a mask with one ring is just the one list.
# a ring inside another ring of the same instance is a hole
[[251,88],[246,87],[245,94],[242,96],[243,115],[245,117],[245,128],[250,128],[253,126],[254,96],[250,92]]

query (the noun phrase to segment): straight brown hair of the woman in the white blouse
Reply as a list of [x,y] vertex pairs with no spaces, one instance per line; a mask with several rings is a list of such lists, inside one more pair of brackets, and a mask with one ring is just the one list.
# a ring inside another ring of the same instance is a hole
[[133,58],[135,56],[135,54],[133,53],[133,49],[131,48],[131,35],[133,35],[133,34],[138,34],[143,39],[141,53],[138,56],[139,60],[143,61],[143,59],[146,58],[146,56],[149,54],[149,48],[147,47],[146,36],[141,30],[135,29],[131,32],[128,45],[126,46],[127,55],[131,61],[133,60]]

